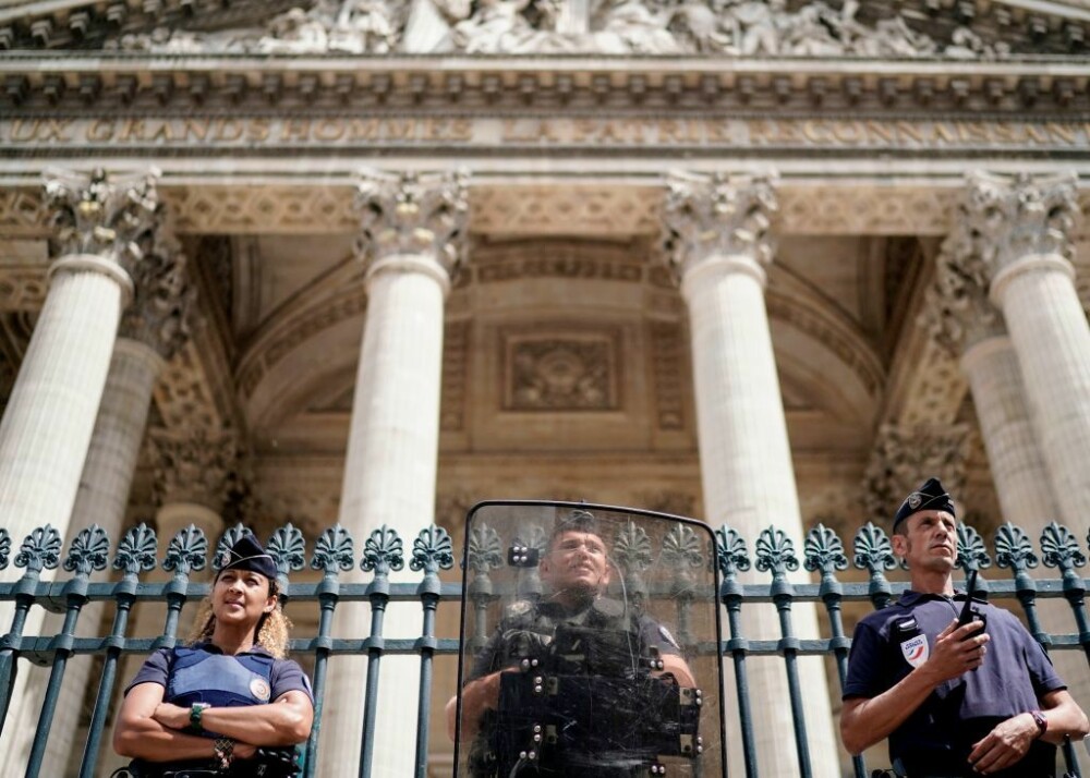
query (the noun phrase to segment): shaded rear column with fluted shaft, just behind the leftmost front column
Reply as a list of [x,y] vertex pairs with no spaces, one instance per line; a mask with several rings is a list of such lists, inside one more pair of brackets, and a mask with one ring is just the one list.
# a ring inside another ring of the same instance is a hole
[[[185,257],[177,241],[160,230],[155,246],[133,268],[132,276],[135,295],[121,319],[102,402],[80,478],[70,536],[98,524],[114,543],[120,539],[152,404],[152,390],[166,362],[189,336],[189,309],[194,294],[185,273]],[[161,525],[159,530],[161,533]],[[170,535],[160,536],[162,539],[169,542]],[[99,634],[101,613],[101,604],[85,606],[80,634]],[[60,623],[60,617],[49,617],[46,633],[57,631]],[[62,775],[73,752],[78,755],[82,751],[77,729],[89,670],[90,657],[74,657],[69,661],[43,762],[43,775]],[[33,720],[27,719],[26,737],[33,738]]]

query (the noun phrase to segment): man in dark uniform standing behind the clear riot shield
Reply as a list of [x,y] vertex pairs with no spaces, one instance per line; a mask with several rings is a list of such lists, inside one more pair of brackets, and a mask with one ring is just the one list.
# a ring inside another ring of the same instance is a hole
[[[615,709],[639,704],[635,697],[627,694],[630,688],[635,688],[640,676],[635,665],[642,668],[651,666],[650,674],[663,679],[665,683],[687,689],[695,686],[692,672],[670,632],[649,616],[637,613],[628,603],[605,596],[613,563],[600,533],[595,516],[585,510],[574,510],[561,521],[549,538],[540,564],[542,582],[547,589],[546,598],[541,603],[523,600],[507,608],[495,634],[477,654],[470,680],[462,689],[461,738],[463,742],[474,741],[470,750],[472,775],[502,775],[507,778],[511,770],[505,766],[505,758],[509,755],[493,753],[497,747],[502,751],[502,745],[497,746],[497,736],[506,734],[505,727],[511,726],[498,720],[505,694],[504,676],[508,676],[506,693],[510,695],[519,689],[511,679],[524,671],[531,661],[533,667],[540,668],[535,672],[548,674],[546,664],[550,661],[549,657],[578,654],[582,661],[594,667],[573,670],[569,665],[565,672],[586,673],[584,683],[588,688],[595,682],[595,676],[627,679],[627,682],[613,686],[618,692],[617,697],[600,701],[600,704],[607,703],[607,708],[610,702]],[[569,635],[570,651],[560,647],[565,635]],[[643,672],[643,677],[647,674]],[[561,690],[559,694],[552,695],[554,700],[565,696],[565,681],[559,683]],[[602,688],[598,689],[601,691]],[[578,692],[576,696],[579,696]],[[509,702],[511,698],[508,697]],[[653,707],[650,703],[645,704],[649,708]],[[447,729],[451,739],[455,738],[456,716],[457,697],[447,704]],[[579,715],[572,713],[572,726],[577,729],[586,724],[579,722],[578,718]],[[617,764],[614,758],[631,759],[631,754],[605,755],[600,752],[588,756],[594,757],[595,767],[577,767],[569,763],[567,767],[549,768],[540,764],[538,759],[538,764],[519,764],[513,769],[524,769],[525,775],[535,776],[565,775],[573,769],[578,769],[580,775],[631,775],[631,768],[610,771],[609,766]]]

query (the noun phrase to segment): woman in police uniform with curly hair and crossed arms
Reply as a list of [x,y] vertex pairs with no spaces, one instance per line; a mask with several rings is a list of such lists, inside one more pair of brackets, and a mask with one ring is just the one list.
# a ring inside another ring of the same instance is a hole
[[292,776],[311,733],[314,700],[286,659],[291,627],[276,567],[252,535],[226,554],[202,604],[195,642],[160,648],[125,690],[118,754],[144,776]]

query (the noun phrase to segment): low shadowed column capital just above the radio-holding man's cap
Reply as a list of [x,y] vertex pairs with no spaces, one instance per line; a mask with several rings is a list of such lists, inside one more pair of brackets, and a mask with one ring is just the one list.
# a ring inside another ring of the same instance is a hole
[[961,494],[969,446],[969,428],[962,424],[882,425],[863,476],[863,499],[870,516],[888,521],[905,496],[932,475],[941,477],[952,495]]

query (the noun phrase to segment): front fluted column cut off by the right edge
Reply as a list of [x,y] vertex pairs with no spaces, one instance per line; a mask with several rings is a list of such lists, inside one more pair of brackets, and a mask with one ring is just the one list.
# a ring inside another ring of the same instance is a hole
[[1090,327],[1075,288],[1075,174],[969,177],[965,222],[980,238],[991,299],[1021,366],[1030,416],[1064,521],[1090,515]]

